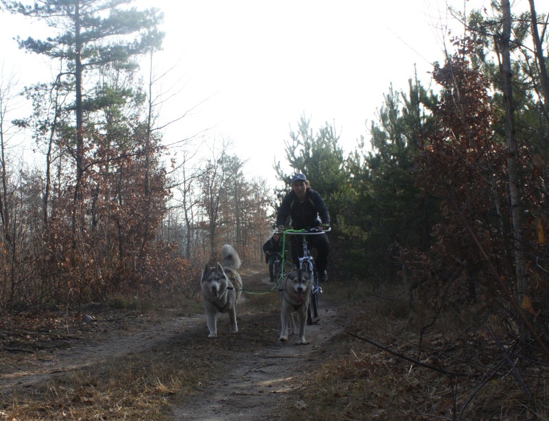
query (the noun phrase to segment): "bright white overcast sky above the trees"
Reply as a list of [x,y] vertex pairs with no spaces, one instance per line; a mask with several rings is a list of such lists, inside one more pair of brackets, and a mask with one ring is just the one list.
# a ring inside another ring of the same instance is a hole
[[[331,124],[351,152],[390,85],[407,91],[417,67],[430,87],[432,62],[443,60],[444,35],[462,31],[447,12],[489,9],[489,0],[137,0],[164,14],[163,51],[154,57],[163,92],[159,124],[165,143],[200,134],[246,161],[246,176],[277,181],[285,141],[302,115],[314,133]],[[527,8],[517,0],[515,8]],[[547,12],[549,0],[537,0]],[[16,35],[44,37],[43,28],[0,13],[3,70],[26,84],[51,80],[44,58],[21,52]],[[446,40],[447,42],[447,40]],[[179,118],[185,115],[183,118]],[[177,120],[174,122],[174,120]],[[181,155],[178,147],[170,148]],[[207,148],[202,147],[202,152]],[[204,152],[209,153],[209,152]],[[313,181],[314,182],[314,181]]]

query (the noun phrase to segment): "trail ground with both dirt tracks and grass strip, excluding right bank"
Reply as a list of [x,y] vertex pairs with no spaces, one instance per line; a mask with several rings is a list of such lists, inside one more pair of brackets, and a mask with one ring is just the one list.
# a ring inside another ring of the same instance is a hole
[[307,411],[303,376],[341,341],[344,315],[327,283],[319,319],[305,330],[310,344],[281,343],[279,293],[265,275],[243,274],[250,293],[237,308],[240,332],[220,315],[216,339],[198,302],[3,319],[0,420],[295,418]]

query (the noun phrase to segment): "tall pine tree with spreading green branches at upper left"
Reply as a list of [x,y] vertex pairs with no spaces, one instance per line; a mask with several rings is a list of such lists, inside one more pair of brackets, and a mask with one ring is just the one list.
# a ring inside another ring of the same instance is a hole
[[163,34],[157,30],[162,20],[159,11],[121,7],[132,1],[46,0],[31,5],[30,2],[1,0],[6,10],[44,19],[56,32],[43,40],[18,37],[17,41],[20,48],[66,66],[58,73],[55,87],[62,87],[74,95],[73,102],[65,109],[73,113],[73,123],[66,124],[64,129],[70,137],[63,139],[75,159],[73,231],[77,225],[76,209],[82,201],[86,149],[93,142],[91,116],[113,102],[124,102],[131,94],[128,90],[113,91],[97,84],[97,72],[108,66],[134,71],[137,65],[132,58],[159,49],[163,39]]

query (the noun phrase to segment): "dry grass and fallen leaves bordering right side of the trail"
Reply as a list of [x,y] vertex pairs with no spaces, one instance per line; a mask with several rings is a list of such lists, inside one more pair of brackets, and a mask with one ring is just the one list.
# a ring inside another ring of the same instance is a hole
[[343,334],[320,369],[304,378],[307,411],[294,420],[549,419],[546,365],[515,359],[528,400],[500,350],[482,332],[467,333],[482,311],[447,310],[430,324],[432,314],[412,312],[398,287],[375,294],[365,284],[347,287],[352,296],[331,295],[347,312],[345,330],[419,363]]

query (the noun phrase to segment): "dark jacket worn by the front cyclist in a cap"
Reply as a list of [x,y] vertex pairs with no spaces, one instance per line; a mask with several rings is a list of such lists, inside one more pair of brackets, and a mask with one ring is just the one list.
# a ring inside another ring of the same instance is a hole
[[330,215],[323,198],[310,187],[307,188],[303,203],[295,192],[286,194],[277,215],[277,226],[286,225],[288,216],[292,219],[291,225],[294,229],[316,227],[319,225],[318,218],[323,224],[330,223]]

